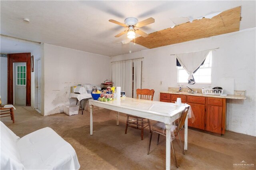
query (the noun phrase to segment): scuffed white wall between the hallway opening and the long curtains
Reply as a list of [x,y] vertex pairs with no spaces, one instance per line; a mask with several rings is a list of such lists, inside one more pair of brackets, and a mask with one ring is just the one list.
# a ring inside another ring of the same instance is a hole
[[62,106],[70,104],[71,86],[100,85],[109,78],[110,57],[45,43],[44,115],[63,112]]

